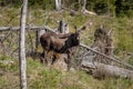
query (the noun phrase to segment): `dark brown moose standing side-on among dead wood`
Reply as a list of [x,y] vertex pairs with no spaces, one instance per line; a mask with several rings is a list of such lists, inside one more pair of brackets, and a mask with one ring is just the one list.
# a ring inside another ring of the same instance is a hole
[[[83,26],[79,30],[76,30],[75,28],[75,32],[70,32],[64,34],[57,34],[52,32],[43,33],[40,37],[40,42],[43,48],[43,52],[41,53],[41,62],[48,63],[45,56],[49,51],[53,51],[57,53],[66,53],[68,59],[65,60],[65,62],[68,63],[68,68],[70,68],[72,48],[80,44],[80,33],[84,29],[85,26]],[[51,63],[53,63],[54,61],[55,61],[55,55],[53,53]]]

